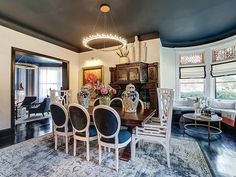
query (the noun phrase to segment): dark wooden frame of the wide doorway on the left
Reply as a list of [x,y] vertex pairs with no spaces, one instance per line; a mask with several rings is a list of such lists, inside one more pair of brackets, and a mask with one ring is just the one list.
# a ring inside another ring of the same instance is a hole
[[62,89],[69,89],[69,61],[61,58],[52,57],[49,55],[37,53],[34,51],[29,51],[25,49],[20,49],[16,47],[11,48],[11,132],[15,133],[15,57],[16,52],[22,52],[28,56],[39,56],[44,58],[49,58],[53,60],[58,60],[62,62]]

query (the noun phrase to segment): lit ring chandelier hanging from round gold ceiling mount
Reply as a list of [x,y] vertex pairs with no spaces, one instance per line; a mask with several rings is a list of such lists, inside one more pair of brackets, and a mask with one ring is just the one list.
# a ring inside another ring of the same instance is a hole
[[[106,18],[105,18],[105,15],[110,12],[111,8],[109,5],[107,4],[102,4],[100,6],[100,11],[104,14],[104,31],[105,31],[105,26],[106,26]],[[97,21],[99,20],[99,17],[98,16],[98,19]],[[112,17],[111,17],[112,18]],[[113,21],[113,19],[112,19]],[[97,23],[96,23],[97,24]],[[96,27],[96,24],[95,24],[95,27]],[[94,29],[95,29],[94,27]],[[101,49],[97,49],[95,47],[93,47],[91,45],[92,42],[95,42],[95,41],[104,41],[104,48],[101,48]],[[109,48],[106,48],[105,47],[105,40],[109,40],[109,41],[112,41],[112,42],[115,42],[115,43],[118,43],[119,45],[116,46],[116,47],[109,47]],[[118,50],[122,47],[124,47],[125,45],[127,44],[127,40],[117,34],[112,34],[112,33],[97,33],[97,34],[92,34],[90,36],[87,36],[83,39],[83,45],[88,48],[88,49],[92,49],[92,50],[101,50],[101,51],[113,51],[113,50]]]

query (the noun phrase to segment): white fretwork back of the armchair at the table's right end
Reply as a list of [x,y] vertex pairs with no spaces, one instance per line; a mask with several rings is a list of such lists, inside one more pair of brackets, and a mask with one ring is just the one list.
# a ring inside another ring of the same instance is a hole
[[157,88],[158,105],[159,105],[159,118],[161,126],[166,127],[166,135],[170,137],[171,134],[171,121],[173,112],[174,90]]

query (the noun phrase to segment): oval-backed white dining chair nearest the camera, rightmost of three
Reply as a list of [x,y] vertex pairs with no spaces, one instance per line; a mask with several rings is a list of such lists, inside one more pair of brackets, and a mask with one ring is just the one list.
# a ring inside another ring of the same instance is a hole
[[131,133],[127,130],[120,130],[120,116],[110,106],[96,106],[93,110],[93,120],[98,132],[99,165],[101,164],[102,147],[114,148],[116,171],[118,171],[119,149],[130,143]]

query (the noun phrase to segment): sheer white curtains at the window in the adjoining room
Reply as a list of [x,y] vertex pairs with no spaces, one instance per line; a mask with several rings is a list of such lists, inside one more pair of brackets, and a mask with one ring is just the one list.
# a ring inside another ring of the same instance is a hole
[[61,67],[39,68],[39,99],[43,100],[49,95],[50,89],[60,90],[62,86]]

